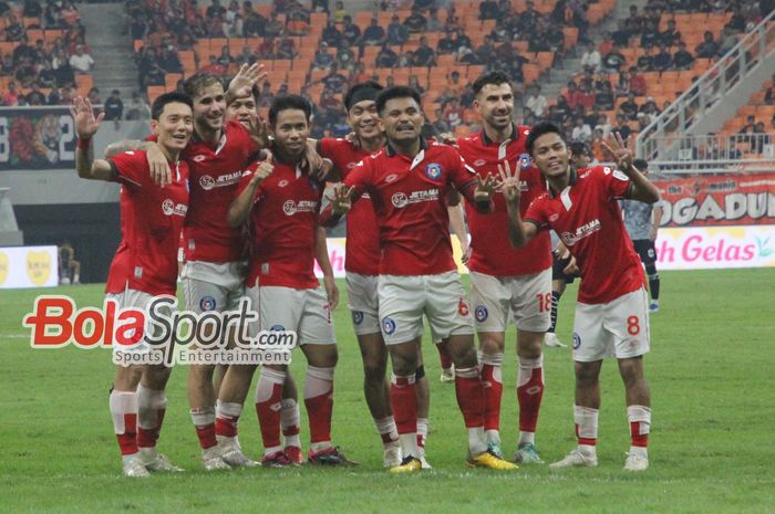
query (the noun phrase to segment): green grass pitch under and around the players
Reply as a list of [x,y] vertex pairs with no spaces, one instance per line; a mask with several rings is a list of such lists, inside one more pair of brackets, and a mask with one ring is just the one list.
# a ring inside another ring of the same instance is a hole
[[[240,470],[206,474],[188,417],[186,369],[176,368],[159,449],[186,473],[121,478],[107,411],[113,367],[106,350],[33,350],[22,316],[41,293],[101,305],[102,286],[0,292],[0,513],[773,513],[775,512],[775,269],[662,273],[662,312],[652,316],[645,369],[652,391],[651,469],[621,470],[629,445],[623,388],[614,361],[602,374],[597,469],[513,473],[464,466],[466,436],[454,387],[431,379],[427,458],[435,470],[390,476],[366,409],[355,337],[335,312],[340,364],[334,443],[356,469]],[[344,290],[343,282],[340,287]],[[560,305],[558,335],[571,340],[576,289]],[[514,331],[504,366],[504,450],[516,444]],[[546,350],[546,394],[537,444],[547,461],[575,444],[569,349]],[[303,357],[294,376],[303,381]],[[251,397],[240,423],[246,452],[260,439]],[[302,403],[303,410],[303,403]],[[302,412],[302,440],[308,434]]]

